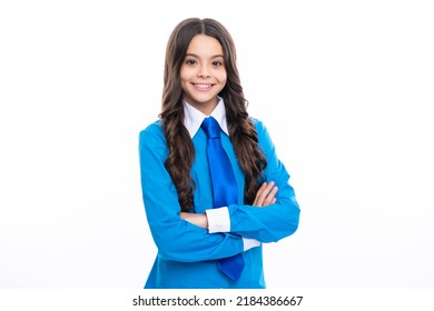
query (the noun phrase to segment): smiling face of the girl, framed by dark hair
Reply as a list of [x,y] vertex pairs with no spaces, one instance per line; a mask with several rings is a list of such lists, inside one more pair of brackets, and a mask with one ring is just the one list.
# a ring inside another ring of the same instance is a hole
[[218,103],[217,94],[226,84],[223,49],[217,39],[195,36],[180,69],[184,100],[210,114]]

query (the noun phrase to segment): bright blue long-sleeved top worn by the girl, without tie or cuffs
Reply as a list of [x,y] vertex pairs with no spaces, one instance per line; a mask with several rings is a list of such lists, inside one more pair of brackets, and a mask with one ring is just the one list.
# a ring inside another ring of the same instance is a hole
[[[253,119],[259,146],[267,159],[266,181],[278,187],[277,202],[265,208],[244,204],[244,173],[229,137],[221,143],[229,156],[238,183],[238,204],[228,207],[230,232],[209,233],[179,217],[177,190],[165,168],[168,156],[160,121],[140,132],[139,154],[144,204],[158,253],[145,288],[149,289],[262,289],[265,288],[263,248],[244,251],[241,237],[260,242],[276,242],[293,234],[298,227],[299,207],[289,174],[278,160],[267,129]],[[196,182],[194,209],[197,213],[213,208],[211,181],[206,157],[207,138],[201,129],[193,138],[196,158],[190,171]],[[230,281],[216,265],[216,259],[243,252],[245,268],[237,282]]]

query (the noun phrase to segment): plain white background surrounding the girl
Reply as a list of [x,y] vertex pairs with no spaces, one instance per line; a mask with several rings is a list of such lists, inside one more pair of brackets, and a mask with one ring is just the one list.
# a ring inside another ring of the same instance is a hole
[[431,1],[1,1],[0,288],[142,288],[138,133],[172,28],[231,32],[302,208],[269,288],[434,285]]

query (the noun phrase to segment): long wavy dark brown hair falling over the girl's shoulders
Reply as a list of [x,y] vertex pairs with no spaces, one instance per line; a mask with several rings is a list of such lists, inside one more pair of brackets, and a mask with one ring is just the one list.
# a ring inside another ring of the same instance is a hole
[[253,121],[248,118],[247,100],[244,98],[236,51],[231,36],[216,20],[190,18],[181,21],[171,32],[167,49],[164,74],[161,107],[161,124],[169,149],[165,165],[178,191],[178,200],[183,211],[194,205],[193,193],[195,182],[190,169],[195,159],[191,138],[184,126],[183,89],[180,68],[191,39],[196,34],[206,34],[217,39],[223,48],[227,82],[219,96],[224,99],[229,137],[235,154],[245,175],[244,200],[251,204],[267,164],[259,146],[258,136]]

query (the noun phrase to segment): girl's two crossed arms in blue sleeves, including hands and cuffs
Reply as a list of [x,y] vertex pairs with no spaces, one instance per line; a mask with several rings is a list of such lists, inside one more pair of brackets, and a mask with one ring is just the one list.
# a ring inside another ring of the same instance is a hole
[[[267,158],[264,172],[267,183],[258,189],[253,204],[229,204],[223,209],[206,210],[206,213],[180,213],[176,189],[164,165],[167,158],[164,133],[158,123],[140,133],[145,209],[161,257],[183,262],[226,258],[245,251],[246,240],[276,242],[297,230],[299,208],[294,189],[288,183],[289,174],[277,159],[274,146],[260,124],[258,136]],[[168,190],[165,195],[161,195],[161,189]],[[214,215],[208,219],[207,214],[216,212],[223,215],[227,212],[229,224]],[[221,223],[223,229],[214,228]]]

